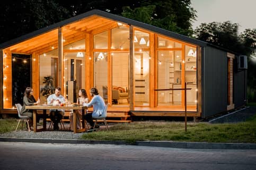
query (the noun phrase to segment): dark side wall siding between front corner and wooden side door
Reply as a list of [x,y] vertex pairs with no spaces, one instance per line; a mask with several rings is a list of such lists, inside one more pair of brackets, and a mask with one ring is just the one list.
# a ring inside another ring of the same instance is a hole
[[205,118],[227,110],[227,53],[207,46],[202,56],[202,118]]

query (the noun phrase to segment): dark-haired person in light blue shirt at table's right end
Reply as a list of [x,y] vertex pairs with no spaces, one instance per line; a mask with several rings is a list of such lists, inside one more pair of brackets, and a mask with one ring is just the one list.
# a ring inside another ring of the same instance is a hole
[[[89,122],[89,124],[91,125],[91,129],[93,129],[94,122],[92,117],[99,117],[102,115],[105,108],[105,102],[103,98],[99,95],[99,92],[96,88],[91,88],[90,94],[91,96],[93,96],[92,100],[89,103],[84,103],[83,105],[86,107],[93,106],[92,114],[85,115],[85,120]],[[99,128],[99,125],[95,128]]]

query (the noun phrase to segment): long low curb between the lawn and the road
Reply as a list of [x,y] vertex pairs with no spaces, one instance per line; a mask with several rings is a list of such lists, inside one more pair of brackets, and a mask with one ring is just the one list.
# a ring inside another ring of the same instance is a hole
[[30,142],[30,143],[54,143],[54,144],[108,144],[108,145],[135,145],[150,147],[169,147],[186,149],[256,149],[256,144],[242,143],[197,143],[197,142],[175,142],[175,141],[108,141],[108,140],[81,140],[81,139],[41,139],[41,138],[4,138],[0,141],[6,142]]

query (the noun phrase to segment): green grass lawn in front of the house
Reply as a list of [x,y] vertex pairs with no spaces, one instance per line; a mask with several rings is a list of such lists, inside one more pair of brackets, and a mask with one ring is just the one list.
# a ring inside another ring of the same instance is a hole
[[[1,133],[15,130],[17,119],[0,120]],[[129,124],[114,124],[109,131],[99,130],[85,133],[86,140],[136,140],[197,141],[211,143],[256,143],[256,116],[246,122],[236,124],[209,124],[208,122],[188,122],[187,132],[184,122],[135,121]]]

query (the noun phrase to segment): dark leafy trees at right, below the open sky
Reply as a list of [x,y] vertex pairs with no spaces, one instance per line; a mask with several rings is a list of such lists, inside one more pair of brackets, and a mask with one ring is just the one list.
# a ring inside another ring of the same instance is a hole
[[[202,23],[195,30],[196,39],[220,46],[233,52],[248,56],[248,89],[249,100],[256,101],[256,62],[253,61],[256,51],[256,29],[246,29],[238,34],[239,24],[231,22]],[[251,93],[254,97],[250,97]]]

